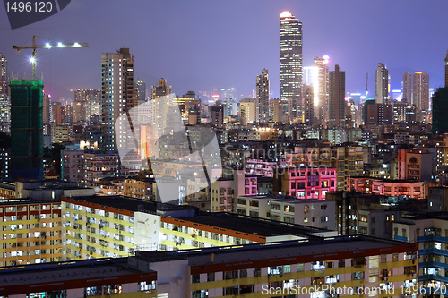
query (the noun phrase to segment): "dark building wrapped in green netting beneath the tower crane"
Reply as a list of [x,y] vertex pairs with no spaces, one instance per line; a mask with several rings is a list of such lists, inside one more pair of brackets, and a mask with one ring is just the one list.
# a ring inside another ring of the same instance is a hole
[[43,177],[42,81],[11,81],[11,175]]

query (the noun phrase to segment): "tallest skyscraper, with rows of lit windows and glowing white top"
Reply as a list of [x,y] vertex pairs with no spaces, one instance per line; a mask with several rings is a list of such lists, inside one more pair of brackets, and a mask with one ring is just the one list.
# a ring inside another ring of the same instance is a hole
[[280,105],[289,119],[302,117],[302,23],[280,14]]

